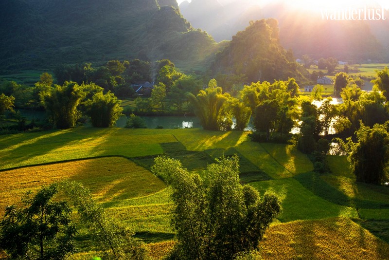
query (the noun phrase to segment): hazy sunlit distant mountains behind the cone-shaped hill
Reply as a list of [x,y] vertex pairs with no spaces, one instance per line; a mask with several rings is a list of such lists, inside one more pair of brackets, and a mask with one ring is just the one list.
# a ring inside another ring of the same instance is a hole
[[[286,1],[258,6],[252,0],[192,0],[179,7],[193,27],[207,31],[216,41],[230,40],[250,20],[274,18],[280,24],[281,44],[295,56],[334,56],[358,63],[389,60],[389,19],[327,20],[318,10],[299,9]],[[389,18],[389,12],[385,14]]]

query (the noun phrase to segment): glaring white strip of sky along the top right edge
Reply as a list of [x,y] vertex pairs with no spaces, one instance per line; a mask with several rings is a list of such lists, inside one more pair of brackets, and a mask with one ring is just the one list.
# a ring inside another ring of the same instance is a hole
[[[178,4],[184,0],[177,0]],[[188,0],[189,2],[192,0]],[[223,3],[231,0],[219,0]],[[239,0],[235,0],[239,1]],[[344,8],[360,8],[369,7],[372,3],[376,2],[385,9],[389,9],[389,0],[279,0],[287,4],[291,4],[299,9],[320,10],[320,9],[344,9]],[[275,0],[252,0],[254,3],[264,4],[268,2],[275,2]]]

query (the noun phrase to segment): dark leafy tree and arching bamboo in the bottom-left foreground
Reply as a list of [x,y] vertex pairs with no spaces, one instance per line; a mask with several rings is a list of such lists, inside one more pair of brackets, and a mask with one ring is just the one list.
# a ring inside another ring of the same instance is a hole
[[33,198],[27,193],[20,209],[8,206],[0,223],[0,249],[12,259],[60,260],[72,253],[77,230],[68,202],[54,198],[59,191],[77,208],[80,223],[88,227],[104,259],[145,258],[145,249],[132,237],[134,233],[108,218],[88,189],[68,181],[44,186]]

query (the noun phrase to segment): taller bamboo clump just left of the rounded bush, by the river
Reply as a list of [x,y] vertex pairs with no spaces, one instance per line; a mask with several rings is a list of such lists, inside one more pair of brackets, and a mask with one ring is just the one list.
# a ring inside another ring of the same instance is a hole
[[85,93],[75,82],[65,82],[63,86],[56,85],[43,97],[45,108],[58,129],[68,129],[76,125],[80,117],[77,107],[84,97]]

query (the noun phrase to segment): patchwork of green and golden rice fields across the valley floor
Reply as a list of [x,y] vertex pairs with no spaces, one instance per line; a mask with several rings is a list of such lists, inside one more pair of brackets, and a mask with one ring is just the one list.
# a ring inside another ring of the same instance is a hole
[[[81,127],[2,135],[0,212],[27,190],[61,179],[79,181],[109,215],[135,231],[152,259],[162,259],[175,243],[173,204],[170,188],[149,171],[153,158],[165,154],[199,172],[234,153],[242,182],[276,194],[283,207],[265,233],[259,259],[389,256],[388,188],[355,183],[345,157],[329,156],[332,173],[319,175],[293,146],[253,143],[240,131]],[[82,232],[77,239],[73,259],[98,255]]]

